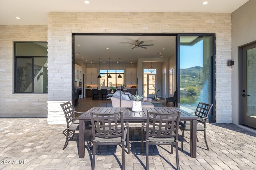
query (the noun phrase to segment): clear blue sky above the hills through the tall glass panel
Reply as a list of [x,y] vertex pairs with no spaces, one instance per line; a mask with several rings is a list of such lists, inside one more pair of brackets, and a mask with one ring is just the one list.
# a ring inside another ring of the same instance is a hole
[[194,45],[180,46],[180,68],[203,66],[203,40]]

